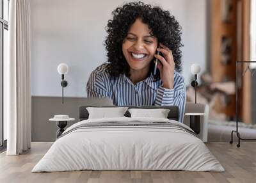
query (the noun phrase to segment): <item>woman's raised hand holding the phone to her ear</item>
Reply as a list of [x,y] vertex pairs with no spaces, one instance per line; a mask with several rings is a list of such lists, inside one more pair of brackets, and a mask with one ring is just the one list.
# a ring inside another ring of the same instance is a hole
[[163,82],[163,87],[167,89],[173,88],[174,83],[174,68],[175,63],[172,56],[172,51],[163,44],[160,44],[160,48],[157,48],[157,51],[163,53],[163,56],[159,54],[155,54],[154,56],[161,61],[161,63],[157,63],[157,68],[160,71],[160,77]]

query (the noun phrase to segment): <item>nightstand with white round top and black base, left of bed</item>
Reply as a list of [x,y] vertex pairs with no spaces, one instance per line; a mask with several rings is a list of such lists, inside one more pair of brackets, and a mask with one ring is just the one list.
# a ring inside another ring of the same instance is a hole
[[50,122],[56,122],[57,127],[59,127],[56,132],[57,138],[65,131],[64,128],[67,126],[67,123],[74,120],[75,118],[69,118],[68,115],[54,115],[54,118],[49,119]]

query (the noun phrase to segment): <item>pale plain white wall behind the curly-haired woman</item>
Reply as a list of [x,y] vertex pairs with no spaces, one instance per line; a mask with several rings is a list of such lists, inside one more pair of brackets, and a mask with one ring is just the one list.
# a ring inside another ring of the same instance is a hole
[[[31,0],[31,95],[61,96],[59,63],[70,67],[65,79],[67,97],[86,97],[92,70],[106,61],[103,42],[111,12],[124,1]],[[175,15],[183,29],[183,76],[191,77],[191,63],[203,70],[206,58],[205,0],[145,1]]]

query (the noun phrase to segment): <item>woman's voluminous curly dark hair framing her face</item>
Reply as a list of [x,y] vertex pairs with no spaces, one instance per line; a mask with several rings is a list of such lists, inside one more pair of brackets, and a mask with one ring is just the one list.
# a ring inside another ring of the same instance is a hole
[[[129,65],[122,52],[122,44],[127,36],[129,28],[140,18],[143,23],[148,25],[152,34],[157,37],[158,42],[166,45],[172,50],[175,70],[180,72],[181,68],[181,27],[170,12],[162,10],[159,6],[144,4],[141,1],[124,4],[116,8],[113,12],[113,19],[108,20],[106,31],[105,46],[108,56],[108,72],[111,77],[118,77],[120,74],[129,74]],[[154,70],[154,62],[150,63],[150,72]],[[155,79],[159,79],[159,71]]]

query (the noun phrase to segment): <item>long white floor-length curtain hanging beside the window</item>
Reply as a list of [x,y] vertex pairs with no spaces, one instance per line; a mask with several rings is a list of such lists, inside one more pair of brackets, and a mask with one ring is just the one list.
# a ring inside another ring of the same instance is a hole
[[8,155],[21,154],[31,145],[30,9],[29,0],[11,0],[9,46],[4,70],[4,110]]

